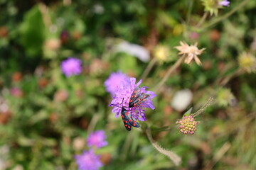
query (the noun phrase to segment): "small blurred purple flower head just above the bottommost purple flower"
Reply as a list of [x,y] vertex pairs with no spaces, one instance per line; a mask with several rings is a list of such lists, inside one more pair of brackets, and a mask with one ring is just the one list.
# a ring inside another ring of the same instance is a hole
[[104,130],[97,130],[96,132],[92,132],[88,137],[87,137],[87,146],[88,147],[105,147],[107,146],[107,141],[106,141],[107,136],[105,135]]

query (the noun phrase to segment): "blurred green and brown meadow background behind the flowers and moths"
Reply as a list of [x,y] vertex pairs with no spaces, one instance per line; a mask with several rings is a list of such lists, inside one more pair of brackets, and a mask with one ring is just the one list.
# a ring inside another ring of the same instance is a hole
[[[256,169],[256,1],[219,2],[0,0],[0,169],[78,169],[95,130],[108,142],[95,151],[100,169]],[[180,64],[128,132],[104,82],[120,71],[156,92],[180,41],[206,48],[202,65]],[[63,74],[68,57],[81,60],[80,74]],[[195,134],[179,132],[176,120],[210,96]]]

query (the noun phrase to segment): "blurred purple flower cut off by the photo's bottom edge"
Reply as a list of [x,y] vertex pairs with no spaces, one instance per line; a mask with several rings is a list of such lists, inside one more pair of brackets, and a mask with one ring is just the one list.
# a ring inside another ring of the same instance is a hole
[[79,170],[97,170],[103,166],[102,162],[100,162],[100,156],[97,156],[93,149],[84,151],[80,155],[75,155],[75,159]]

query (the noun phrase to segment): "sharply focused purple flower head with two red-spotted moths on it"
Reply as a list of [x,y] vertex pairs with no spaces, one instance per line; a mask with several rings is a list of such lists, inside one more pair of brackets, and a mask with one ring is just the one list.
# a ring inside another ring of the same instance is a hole
[[[131,112],[131,115],[134,119],[140,120],[140,121],[145,121],[145,113],[144,113],[144,108],[151,108],[154,109],[154,105],[151,101],[152,98],[156,96],[153,91],[146,91],[146,86],[140,87],[141,94],[149,94],[149,98],[146,99],[146,101],[139,106],[135,106],[132,108],[129,107],[129,99],[132,96],[132,93],[134,89],[139,86],[139,84],[142,83],[142,80],[140,80],[137,84],[135,78],[130,78],[129,83],[127,81],[122,81],[118,88],[117,91],[115,92],[114,96],[112,96],[112,102],[110,106],[113,106],[112,113],[115,113],[115,117],[118,118],[119,113],[122,111],[122,107],[125,107],[127,110]],[[122,103],[122,105],[121,105]]]

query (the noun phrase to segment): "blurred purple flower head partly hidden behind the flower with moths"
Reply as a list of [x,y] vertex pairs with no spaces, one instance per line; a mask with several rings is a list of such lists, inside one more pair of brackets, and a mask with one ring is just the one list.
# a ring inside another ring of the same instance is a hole
[[120,82],[124,80],[126,80],[127,82],[129,81],[126,74],[123,74],[122,72],[113,72],[104,83],[106,91],[110,92],[110,94],[113,96]]

